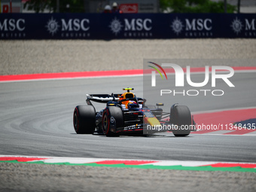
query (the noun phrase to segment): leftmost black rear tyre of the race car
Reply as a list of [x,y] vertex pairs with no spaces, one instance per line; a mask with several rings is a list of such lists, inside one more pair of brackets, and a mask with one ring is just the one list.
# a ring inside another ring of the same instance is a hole
[[95,130],[95,108],[93,105],[78,105],[74,110],[73,124],[78,134],[93,134]]

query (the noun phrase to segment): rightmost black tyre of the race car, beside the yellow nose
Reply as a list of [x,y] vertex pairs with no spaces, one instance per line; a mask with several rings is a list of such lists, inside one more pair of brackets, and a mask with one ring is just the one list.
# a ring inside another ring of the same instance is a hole
[[192,123],[189,108],[185,105],[175,105],[172,110],[174,110],[171,111],[173,116],[172,123],[179,126],[178,130],[172,130],[173,135],[177,137],[188,136],[190,134],[190,125]]

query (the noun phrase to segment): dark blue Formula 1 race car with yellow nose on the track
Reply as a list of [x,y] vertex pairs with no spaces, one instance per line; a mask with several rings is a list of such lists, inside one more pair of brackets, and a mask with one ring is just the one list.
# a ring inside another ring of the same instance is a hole
[[[196,131],[196,123],[187,106],[172,105],[167,113],[160,108],[163,103],[147,106],[146,99],[130,92],[133,88],[123,90],[126,90],[123,94],[87,94],[87,105],[78,105],[74,111],[75,132],[119,136],[122,133],[171,131],[175,136],[188,136],[191,131]],[[106,107],[96,112],[92,102],[106,103]]]

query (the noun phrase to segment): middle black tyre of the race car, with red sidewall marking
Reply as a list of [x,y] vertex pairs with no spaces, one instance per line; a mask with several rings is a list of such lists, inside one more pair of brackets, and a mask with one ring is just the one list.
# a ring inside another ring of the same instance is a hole
[[[111,122],[112,121],[112,122]],[[119,136],[117,127],[123,126],[123,111],[119,107],[108,106],[102,115],[102,132],[105,136]]]

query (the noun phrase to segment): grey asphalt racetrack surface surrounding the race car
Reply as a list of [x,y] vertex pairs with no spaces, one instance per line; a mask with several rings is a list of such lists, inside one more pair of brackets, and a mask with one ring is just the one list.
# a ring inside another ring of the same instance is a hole
[[[252,107],[255,81],[255,73],[236,73],[236,87],[225,96],[175,96],[165,108],[169,111],[175,102],[188,105],[192,112]],[[122,87],[134,87],[142,96],[142,77],[0,83],[0,154],[255,162],[254,136],[75,134],[72,114],[76,105],[85,104],[85,94],[122,93]],[[96,104],[101,108],[104,105]]]

